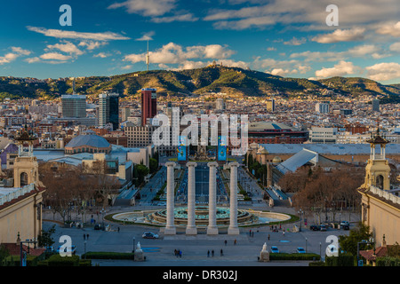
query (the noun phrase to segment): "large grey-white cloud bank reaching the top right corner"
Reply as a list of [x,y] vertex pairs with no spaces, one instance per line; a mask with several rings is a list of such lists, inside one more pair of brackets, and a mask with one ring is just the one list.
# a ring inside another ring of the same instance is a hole
[[[244,1],[239,1],[244,2]],[[204,20],[215,21],[215,28],[265,28],[275,24],[294,28],[329,28],[325,12],[332,0],[270,0],[250,1],[245,6],[231,9],[212,9]],[[335,0],[339,7],[340,28],[353,28],[381,21],[398,20],[398,0]],[[304,23],[306,25],[297,24]],[[296,27],[297,26],[297,27]]]

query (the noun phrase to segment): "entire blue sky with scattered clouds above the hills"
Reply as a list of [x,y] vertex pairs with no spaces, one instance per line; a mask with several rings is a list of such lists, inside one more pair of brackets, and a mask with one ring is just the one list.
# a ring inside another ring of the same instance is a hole
[[[61,26],[60,6],[72,9]],[[328,26],[329,4],[338,26]],[[0,75],[118,75],[217,60],[273,75],[400,83],[398,0],[18,1],[2,5]]]

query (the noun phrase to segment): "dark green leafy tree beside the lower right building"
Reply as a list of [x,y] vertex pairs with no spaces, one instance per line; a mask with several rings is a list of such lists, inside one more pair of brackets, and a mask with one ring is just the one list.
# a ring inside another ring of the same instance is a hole
[[[355,229],[350,230],[348,236],[340,235],[339,244],[340,248],[344,251],[351,253],[353,256],[357,254],[357,244],[361,241],[369,241],[372,238],[372,232],[370,232],[370,227],[364,225],[364,223],[358,223]],[[367,249],[367,248],[360,248]]]

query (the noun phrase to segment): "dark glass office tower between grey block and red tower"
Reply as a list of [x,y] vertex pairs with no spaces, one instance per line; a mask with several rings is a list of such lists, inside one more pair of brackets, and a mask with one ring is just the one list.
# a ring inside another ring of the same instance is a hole
[[119,127],[119,98],[117,93],[103,92],[99,95],[99,126],[113,124],[113,130]]

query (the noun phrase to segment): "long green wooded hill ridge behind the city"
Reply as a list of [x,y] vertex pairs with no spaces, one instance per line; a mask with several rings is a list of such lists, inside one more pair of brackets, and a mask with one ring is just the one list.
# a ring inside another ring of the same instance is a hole
[[[188,95],[209,91],[231,96],[266,96],[279,93],[288,98],[316,94],[354,97],[383,95],[389,101],[398,99],[400,84],[382,85],[364,78],[332,77],[323,80],[285,78],[238,67],[209,66],[196,69],[140,71],[124,75],[91,76],[76,79],[76,92],[97,96],[101,91],[116,91],[135,96],[141,88],[156,88],[157,94]],[[54,99],[72,93],[72,80],[46,80],[0,77],[0,99],[28,97]]]

